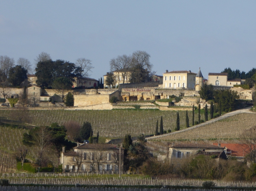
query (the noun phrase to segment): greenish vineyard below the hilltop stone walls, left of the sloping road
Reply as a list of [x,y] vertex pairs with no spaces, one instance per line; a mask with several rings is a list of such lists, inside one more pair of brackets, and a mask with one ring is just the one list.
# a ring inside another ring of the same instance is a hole
[[[0,110],[2,119],[13,119],[15,110]],[[36,126],[50,125],[53,122],[63,124],[73,120],[81,125],[90,122],[94,132],[109,138],[154,134],[155,124],[163,116],[164,130],[174,131],[176,111],[160,110],[27,110],[29,123]],[[179,111],[181,129],[186,126],[186,111]],[[192,112],[188,111],[189,123],[192,124]],[[204,115],[201,114],[201,119]],[[195,121],[197,120],[195,115]]]

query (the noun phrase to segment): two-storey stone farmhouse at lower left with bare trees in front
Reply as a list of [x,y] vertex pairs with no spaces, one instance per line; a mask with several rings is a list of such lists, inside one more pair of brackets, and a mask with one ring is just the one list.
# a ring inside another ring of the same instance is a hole
[[[121,148],[121,170],[123,170]],[[78,171],[119,171],[120,148],[112,144],[79,144],[72,152],[62,148],[60,164],[66,172]],[[79,167],[79,168],[78,168]]]

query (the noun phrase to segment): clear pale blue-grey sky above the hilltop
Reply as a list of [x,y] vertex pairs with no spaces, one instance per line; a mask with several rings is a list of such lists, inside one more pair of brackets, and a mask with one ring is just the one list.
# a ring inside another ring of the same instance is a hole
[[[191,70],[208,78],[226,67],[256,67],[256,1],[1,0],[0,56],[92,60],[91,78],[136,50],[153,71]],[[35,66],[34,66],[35,67]]]

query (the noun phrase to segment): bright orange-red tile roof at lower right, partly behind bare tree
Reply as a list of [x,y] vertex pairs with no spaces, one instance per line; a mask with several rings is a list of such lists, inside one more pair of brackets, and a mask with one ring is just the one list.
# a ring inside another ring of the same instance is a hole
[[[213,145],[218,145],[218,143],[214,143]],[[231,156],[236,157],[244,157],[249,152],[249,149],[245,144],[227,144],[221,143],[221,147],[227,148],[227,152],[231,151]],[[226,153],[230,155],[230,153]]]

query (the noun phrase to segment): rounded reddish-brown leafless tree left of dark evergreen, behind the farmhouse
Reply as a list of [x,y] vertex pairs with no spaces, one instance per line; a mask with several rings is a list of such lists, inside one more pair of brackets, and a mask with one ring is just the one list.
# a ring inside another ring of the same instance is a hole
[[79,137],[80,132],[80,124],[75,121],[67,121],[63,124],[67,130],[67,137],[70,141],[77,141],[76,139]]

